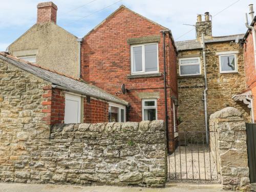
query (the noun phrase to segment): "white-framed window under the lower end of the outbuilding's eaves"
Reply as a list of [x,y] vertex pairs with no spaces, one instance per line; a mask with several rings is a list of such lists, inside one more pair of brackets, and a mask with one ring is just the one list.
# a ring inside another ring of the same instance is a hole
[[125,122],[125,106],[109,103],[109,122]]

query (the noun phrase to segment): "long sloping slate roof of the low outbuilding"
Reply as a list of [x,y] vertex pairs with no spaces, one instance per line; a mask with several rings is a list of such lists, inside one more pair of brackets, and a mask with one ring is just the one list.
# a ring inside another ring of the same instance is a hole
[[73,79],[71,77],[58,74],[56,72],[41,68],[40,66],[34,65],[30,62],[27,62],[22,59],[7,55],[3,52],[0,52],[0,59],[3,59],[12,65],[27,71],[37,77],[40,77],[46,81],[49,81],[57,86],[71,89],[72,92],[80,93],[87,96],[92,96],[106,101],[111,101],[123,105],[128,105],[129,103],[125,100],[122,100],[116,96],[113,96],[91,84],[82,82],[78,79]]

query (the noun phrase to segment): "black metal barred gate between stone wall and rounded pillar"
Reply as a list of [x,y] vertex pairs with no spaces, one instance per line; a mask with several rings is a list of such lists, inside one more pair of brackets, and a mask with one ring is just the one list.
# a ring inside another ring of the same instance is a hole
[[218,180],[216,132],[169,133],[169,180]]

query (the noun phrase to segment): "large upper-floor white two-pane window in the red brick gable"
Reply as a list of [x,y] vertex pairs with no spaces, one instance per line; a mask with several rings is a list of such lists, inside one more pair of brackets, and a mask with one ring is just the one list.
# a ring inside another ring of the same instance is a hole
[[158,72],[158,43],[131,46],[131,74]]

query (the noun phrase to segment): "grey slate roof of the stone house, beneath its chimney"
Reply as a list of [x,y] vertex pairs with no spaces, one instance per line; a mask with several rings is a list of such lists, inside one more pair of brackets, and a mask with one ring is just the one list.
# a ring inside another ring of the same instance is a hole
[[[232,40],[236,40],[237,36],[239,36],[239,39],[243,39],[244,34],[213,37],[212,39],[206,39],[205,40],[205,44],[209,44],[211,42],[232,41]],[[175,45],[176,45],[178,51],[202,49],[201,42],[197,41],[196,39],[184,40],[184,41],[176,41]]]

